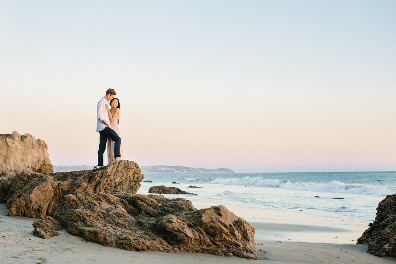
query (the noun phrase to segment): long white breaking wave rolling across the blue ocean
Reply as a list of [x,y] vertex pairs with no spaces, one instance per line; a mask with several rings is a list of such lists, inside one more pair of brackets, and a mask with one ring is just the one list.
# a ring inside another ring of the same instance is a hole
[[[190,180],[193,182],[194,180]],[[263,179],[261,177],[245,177],[245,178],[217,178],[209,181],[212,184],[228,184],[228,185],[251,185],[259,187],[274,187],[282,189],[290,189],[297,191],[322,191],[322,192],[339,192],[339,193],[360,193],[369,195],[389,195],[396,193],[394,187],[379,186],[359,186],[353,184],[345,184],[333,180],[331,182],[291,182],[278,179]]]

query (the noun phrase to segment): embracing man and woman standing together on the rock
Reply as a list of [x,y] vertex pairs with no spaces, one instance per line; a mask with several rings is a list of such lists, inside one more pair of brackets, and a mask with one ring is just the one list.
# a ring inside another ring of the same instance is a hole
[[[116,91],[107,89],[106,96],[97,105],[96,132],[99,132],[98,167],[103,166],[103,153],[107,143],[107,161],[120,161],[124,159],[122,153],[120,130],[118,120],[120,119],[120,100],[114,98]],[[109,104],[111,109],[109,108]]]

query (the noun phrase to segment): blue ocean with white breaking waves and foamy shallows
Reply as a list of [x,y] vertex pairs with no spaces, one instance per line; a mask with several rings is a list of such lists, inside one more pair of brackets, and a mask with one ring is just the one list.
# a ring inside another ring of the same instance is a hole
[[[373,221],[378,203],[396,193],[396,172],[158,173],[145,174],[139,193],[156,185],[179,187],[222,201]],[[173,181],[178,184],[171,184]],[[188,186],[200,188],[188,188]],[[188,198],[188,195],[179,195]],[[335,199],[336,198],[336,199]],[[342,198],[342,199],[340,199]]]

